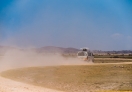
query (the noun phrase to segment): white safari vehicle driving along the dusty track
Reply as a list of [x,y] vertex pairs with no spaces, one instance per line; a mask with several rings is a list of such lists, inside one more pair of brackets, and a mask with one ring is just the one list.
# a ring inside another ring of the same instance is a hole
[[94,55],[88,48],[82,48],[81,51],[77,53],[77,56],[83,61],[94,62]]

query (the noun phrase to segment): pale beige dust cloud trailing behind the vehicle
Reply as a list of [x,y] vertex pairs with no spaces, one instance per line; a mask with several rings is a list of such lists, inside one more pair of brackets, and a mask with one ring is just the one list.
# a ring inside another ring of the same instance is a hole
[[38,53],[31,49],[11,49],[0,56],[0,71],[21,67],[79,64],[86,64],[86,62],[77,58],[66,58],[61,54]]

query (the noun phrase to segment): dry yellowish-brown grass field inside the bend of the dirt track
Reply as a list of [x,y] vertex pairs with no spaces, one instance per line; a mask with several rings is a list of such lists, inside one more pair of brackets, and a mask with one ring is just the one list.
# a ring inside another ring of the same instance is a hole
[[8,70],[1,76],[66,92],[132,90],[132,64],[28,67]]

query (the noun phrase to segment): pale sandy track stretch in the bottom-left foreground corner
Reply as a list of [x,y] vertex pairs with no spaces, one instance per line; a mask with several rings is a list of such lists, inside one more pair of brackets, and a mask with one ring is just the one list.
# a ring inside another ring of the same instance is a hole
[[0,92],[62,92],[0,77]]

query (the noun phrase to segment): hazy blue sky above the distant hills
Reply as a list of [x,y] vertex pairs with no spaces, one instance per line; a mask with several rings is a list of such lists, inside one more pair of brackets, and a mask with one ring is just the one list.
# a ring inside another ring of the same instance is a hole
[[132,50],[132,0],[0,0],[0,45]]

